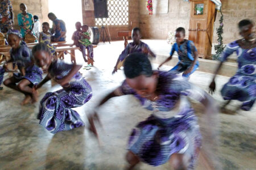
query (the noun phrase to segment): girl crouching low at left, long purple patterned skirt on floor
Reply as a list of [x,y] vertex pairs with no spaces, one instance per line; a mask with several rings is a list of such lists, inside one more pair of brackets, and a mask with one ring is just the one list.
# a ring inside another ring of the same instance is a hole
[[48,92],[40,101],[39,124],[51,133],[84,126],[79,114],[72,109],[81,107],[92,97],[92,88],[78,72],[81,65],[64,63],[60,59],[52,60],[51,52],[42,43],[34,46],[32,54],[36,64],[48,72],[35,90],[50,79],[63,87],[61,90]]

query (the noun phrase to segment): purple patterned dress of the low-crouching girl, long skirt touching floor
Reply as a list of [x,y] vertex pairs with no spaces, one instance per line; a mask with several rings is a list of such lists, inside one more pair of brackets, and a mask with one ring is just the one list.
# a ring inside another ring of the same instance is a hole
[[[58,80],[66,76],[72,67],[72,64],[57,59],[52,61],[48,73]],[[79,114],[72,108],[81,107],[91,97],[92,88],[80,73],[76,73],[67,86],[48,92],[40,101],[39,124],[53,134],[84,126]]]

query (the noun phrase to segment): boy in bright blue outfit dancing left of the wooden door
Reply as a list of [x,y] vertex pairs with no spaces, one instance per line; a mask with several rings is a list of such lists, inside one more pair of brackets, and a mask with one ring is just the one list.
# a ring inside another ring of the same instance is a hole
[[179,56],[179,62],[170,71],[183,73],[182,76],[189,78],[189,76],[199,67],[199,62],[197,61],[198,53],[193,41],[186,40],[184,37],[185,29],[182,27],[177,28],[175,33],[176,42],[174,45],[172,45],[170,57],[161,63],[158,69],[164,63],[170,61],[174,55],[174,52],[176,51]]

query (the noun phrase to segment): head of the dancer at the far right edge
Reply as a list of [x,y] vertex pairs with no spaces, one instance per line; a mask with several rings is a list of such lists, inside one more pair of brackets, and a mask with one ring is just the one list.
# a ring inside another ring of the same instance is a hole
[[238,23],[238,28],[240,29],[240,35],[245,40],[254,39],[255,31],[254,31],[254,23],[249,19],[243,19]]

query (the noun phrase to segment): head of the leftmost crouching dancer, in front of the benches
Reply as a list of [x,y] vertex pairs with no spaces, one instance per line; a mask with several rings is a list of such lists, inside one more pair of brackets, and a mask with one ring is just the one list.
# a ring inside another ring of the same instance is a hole
[[22,35],[16,29],[10,29],[7,33],[8,44],[13,49],[17,49],[20,46],[20,41],[22,41]]

